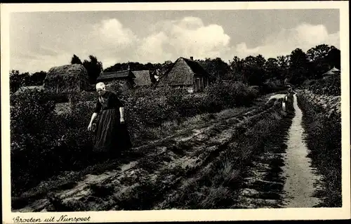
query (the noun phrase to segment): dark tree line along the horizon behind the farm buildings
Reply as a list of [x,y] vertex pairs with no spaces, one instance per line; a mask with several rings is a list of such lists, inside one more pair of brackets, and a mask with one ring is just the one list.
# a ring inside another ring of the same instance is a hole
[[[319,79],[322,74],[332,67],[340,69],[340,50],[335,46],[320,44],[304,52],[296,48],[289,55],[279,55],[277,58],[264,58],[263,55],[239,58],[234,56],[229,62],[221,58],[205,58],[196,60],[210,74],[210,81],[234,79],[253,86],[261,86],[265,82],[282,81],[288,79],[293,85],[302,84],[306,79]],[[94,55],[89,55],[83,62],[77,55],[73,55],[71,64],[83,65],[91,84],[95,84],[100,72],[116,72],[119,70],[152,70],[164,74],[173,62],[163,63],[118,62],[103,69],[102,62]],[[43,83],[46,72],[20,73],[18,70],[10,72],[11,91],[20,86],[39,86]]]

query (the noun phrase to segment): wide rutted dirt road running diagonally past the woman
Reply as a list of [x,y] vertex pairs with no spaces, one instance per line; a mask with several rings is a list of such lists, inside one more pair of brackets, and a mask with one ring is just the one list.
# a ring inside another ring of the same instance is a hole
[[60,180],[46,183],[59,183],[59,186],[27,197],[24,200],[27,203],[16,202],[13,211],[163,209],[176,200],[176,192],[189,180],[207,171],[230,140],[272,110],[274,102],[265,104],[266,101],[264,98],[260,107],[213,121],[208,126],[193,129],[192,133],[185,131],[185,134],[140,147],[133,152],[135,160],[112,163],[103,173],[86,173],[61,185]]

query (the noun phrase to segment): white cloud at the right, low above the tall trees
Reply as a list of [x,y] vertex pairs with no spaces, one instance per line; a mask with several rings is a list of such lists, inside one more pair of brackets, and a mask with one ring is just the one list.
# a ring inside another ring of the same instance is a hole
[[324,25],[303,23],[292,29],[282,29],[270,35],[262,45],[255,48],[248,48],[245,43],[237,44],[234,54],[241,58],[258,54],[265,58],[274,58],[277,55],[288,55],[296,48],[301,48],[306,52],[319,44],[340,48],[340,32],[329,34]]

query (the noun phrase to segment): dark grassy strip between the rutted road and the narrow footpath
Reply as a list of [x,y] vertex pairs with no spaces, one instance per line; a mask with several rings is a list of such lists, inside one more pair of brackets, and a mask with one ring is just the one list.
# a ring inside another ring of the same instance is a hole
[[[251,121],[241,131],[238,129],[230,143],[223,145],[222,151],[213,157],[211,162],[204,164],[204,168],[197,171],[191,178],[185,179],[177,190],[174,190],[155,208],[227,209],[237,206],[239,189],[244,187],[244,178],[251,169],[251,162],[276,143],[274,142],[276,134],[283,126],[285,127],[285,120],[292,119],[293,115],[283,114],[279,105],[274,108],[260,115],[256,121]],[[284,116],[288,117],[284,118]],[[272,173],[279,172],[276,166],[282,166],[282,161],[279,160],[277,164],[271,164],[271,166]],[[269,188],[268,185],[265,186]],[[258,188],[260,187],[262,185],[258,185]],[[261,196],[277,199],[280,197],[281,190],[282,184],[274,185],[273,189],[269,190],[272,192],[261,189]]]

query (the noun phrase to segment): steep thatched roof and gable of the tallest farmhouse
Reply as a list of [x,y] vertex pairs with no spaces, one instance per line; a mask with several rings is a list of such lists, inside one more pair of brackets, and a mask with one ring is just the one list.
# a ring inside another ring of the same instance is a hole
[[161,77],[159,86],[166,84],[170,86],[191,86],[194,76],[208,76],[198,62],[180,57],[173,63],[170,69]]

